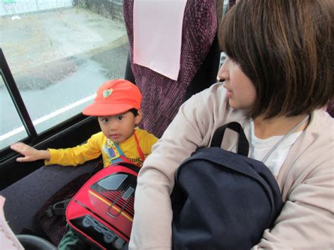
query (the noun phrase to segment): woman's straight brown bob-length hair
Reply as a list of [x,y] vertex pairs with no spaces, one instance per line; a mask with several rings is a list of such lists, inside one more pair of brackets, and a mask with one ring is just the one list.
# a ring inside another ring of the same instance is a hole
[[333,99],[333,18],[333,0],[244,0],[228,11],[219,44],[255,86],[250,118],[306,114]]

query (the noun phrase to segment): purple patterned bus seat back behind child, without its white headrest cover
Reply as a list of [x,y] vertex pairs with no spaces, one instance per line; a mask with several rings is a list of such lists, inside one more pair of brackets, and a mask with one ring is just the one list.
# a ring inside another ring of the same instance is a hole
[[216,38],[216,1],[187,1],[183,18],[180,71],[176,81],[133,63],[133,4],[134,0],[123,1],[130,44],[125,79],[134,80],[142,91],[144,117],[140,125],[161,137],[183,101],[216,82],[220,60]]

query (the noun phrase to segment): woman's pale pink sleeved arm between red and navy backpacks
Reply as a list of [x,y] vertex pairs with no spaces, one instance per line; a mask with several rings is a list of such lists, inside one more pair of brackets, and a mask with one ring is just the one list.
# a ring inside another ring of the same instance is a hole
[[153,146],[137,180],[130,249],[171,249],[170,194],[175,170],[197,147],[209,144],[210,135],[204,135],[209,123],[202,96],[197,94],[181,106]]

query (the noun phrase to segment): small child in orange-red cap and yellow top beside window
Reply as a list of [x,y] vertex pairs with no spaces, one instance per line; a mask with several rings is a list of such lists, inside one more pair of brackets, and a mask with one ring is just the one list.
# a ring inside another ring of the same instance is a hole
[[[45,165],[78,165],[102,155],[104,167],[121,161],[120,156],[142,166],[158,138],[135,127],[142,119],[141,101],[140,90],[131,82],[109,80],[99,87],[93,104],[82,111],[84,115],[97,116],[101,127],[101,132],[92,135],[85,144],[69,149],[37,150],[18,142],[11,149],[23,154],[24,157],[17,158],[19,162],[44,160]],[[58,247],[68,249],[79,245],[80,249],[85,246],[69,231]]]

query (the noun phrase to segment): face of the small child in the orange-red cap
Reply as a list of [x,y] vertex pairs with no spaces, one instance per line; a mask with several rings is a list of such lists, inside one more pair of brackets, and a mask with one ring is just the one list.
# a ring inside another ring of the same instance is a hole
[[118,115],[99,116],[99,125],[104,135],[113,142],[120,143],[131,137],[135,125],[142,119],[142,113],[138,111],[135,116],[128,111]]

